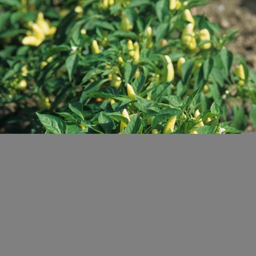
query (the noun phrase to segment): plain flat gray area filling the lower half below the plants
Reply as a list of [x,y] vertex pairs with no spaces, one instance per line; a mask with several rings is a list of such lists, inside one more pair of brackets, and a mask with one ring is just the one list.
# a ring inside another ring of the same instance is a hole
[[256,253],[255,135],[0,141],[0,255]]

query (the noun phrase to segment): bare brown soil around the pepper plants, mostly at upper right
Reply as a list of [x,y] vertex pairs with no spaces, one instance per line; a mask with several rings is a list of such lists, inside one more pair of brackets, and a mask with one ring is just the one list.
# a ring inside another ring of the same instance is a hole
[[[193,15],[205,14],[208,20],[217,23],[222,32],[227,29],[239,29],[238,39],[227,45],[227,50],[238,53],[246,60],[250,69],[256,72],[256,1],[255,0],[212,0],[211,4],[192,9]],[[0,122],[3,116],[15,111],[15,106],[10,105],[0,108]],[[29,125],[29,123],[27,123]],[[14,127],[13,127],[14,126]],[[26,124],[8,124],[1,127],[0,133],[24,133]],[[18,131],[18,132],[17,132]],[[250,121],[248,121],[245,132],[255,132]]]

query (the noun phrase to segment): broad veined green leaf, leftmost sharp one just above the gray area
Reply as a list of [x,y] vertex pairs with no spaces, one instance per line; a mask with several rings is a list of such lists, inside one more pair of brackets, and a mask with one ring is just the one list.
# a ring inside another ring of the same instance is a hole
[[37,112],[36,114],[42,125],[45,129],[48,129],[49,132],[53,134],[67,133],[66,123],[61,118],[47,114],[39,114]]

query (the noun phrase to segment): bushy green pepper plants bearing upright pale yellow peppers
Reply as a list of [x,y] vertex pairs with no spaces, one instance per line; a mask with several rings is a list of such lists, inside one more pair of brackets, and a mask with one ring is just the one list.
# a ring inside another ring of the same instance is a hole
[[[15,13],[2,2],[2,13]],[[34,99],[27,118],[44,133],[240,133],[225,101],[235,85],[252,100],[256,127],[256,75],[225,47],[237,31],[221,34],[204,15],[192,15],[203,4],[70,0],[49,11],[45,1],[15,35],[17,49],[0,51],[2,104],[25,99],[28,110],[26,99]],[[29,90],[12,89],[17,79]]]

